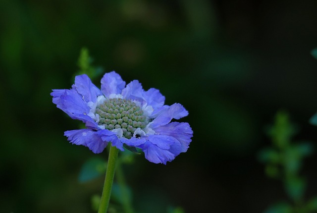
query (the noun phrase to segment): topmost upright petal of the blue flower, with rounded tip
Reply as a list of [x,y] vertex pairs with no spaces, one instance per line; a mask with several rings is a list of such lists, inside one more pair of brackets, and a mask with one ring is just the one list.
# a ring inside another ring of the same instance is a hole
[[101,91],[106,97],[110,94],[121,94],[124,87],[125,81],[114,71],[106,73],[101,79]]

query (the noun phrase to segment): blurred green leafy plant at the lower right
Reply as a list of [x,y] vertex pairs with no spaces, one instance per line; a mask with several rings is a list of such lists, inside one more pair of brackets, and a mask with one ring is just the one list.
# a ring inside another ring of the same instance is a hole
[[313,213],[317,211],[317,197],[304,200],[307,181],[299,172],[305,157],[312,154],[309,142],[293,143],[292,137],[298,128],[289,120],[284,111],[277,112],[275,123],[267,131],[272,146],[259,153],[259,160],[265,163],[268,177],[282,181],[290,203],[280,202],[269,207],[264,213]]

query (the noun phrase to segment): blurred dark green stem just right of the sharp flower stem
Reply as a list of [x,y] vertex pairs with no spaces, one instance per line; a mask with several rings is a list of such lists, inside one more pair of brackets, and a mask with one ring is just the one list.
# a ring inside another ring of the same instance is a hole
[[125,213],[133,213],[133,209],[132,209],[132,205],[131,205],[131,201],[129,197],[129,192],[127,190],[128,188],[125,183],[125,178],[124,178],[120,160],[118,160],[118,164],[117,164],[116,180],[118,181],[118,184],[120,187],[120,191],[122,195],[122,203],[123,203],[123,208]]

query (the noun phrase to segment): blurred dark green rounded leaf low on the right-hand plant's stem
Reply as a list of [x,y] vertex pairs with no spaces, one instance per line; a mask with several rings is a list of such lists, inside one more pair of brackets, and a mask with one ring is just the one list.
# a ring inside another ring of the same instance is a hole
[[298,177],[287,178],[285,188],[288,196],[292,200],[299,201],[303,198],[306,189],[306,181],[303,178]]

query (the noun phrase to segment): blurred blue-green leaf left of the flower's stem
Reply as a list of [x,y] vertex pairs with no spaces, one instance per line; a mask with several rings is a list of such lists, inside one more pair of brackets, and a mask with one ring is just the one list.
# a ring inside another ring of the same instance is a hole
[[93,180],[106,172],[106,160],[94,157],[87,160],[79,173],[79,182],[87,182]]

